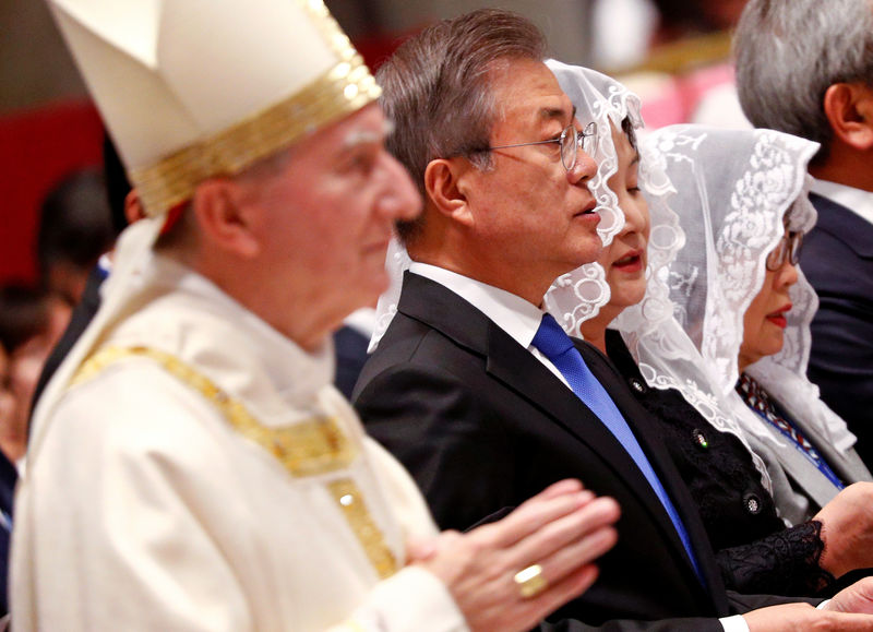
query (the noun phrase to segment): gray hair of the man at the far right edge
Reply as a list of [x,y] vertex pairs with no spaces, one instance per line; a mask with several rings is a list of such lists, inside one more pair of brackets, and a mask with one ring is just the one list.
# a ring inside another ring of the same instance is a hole
[[755,127],[822,144],[833,131],[824,96],[835,83],[873,85],[871,0],[750,0],[733,39],[737,88]]

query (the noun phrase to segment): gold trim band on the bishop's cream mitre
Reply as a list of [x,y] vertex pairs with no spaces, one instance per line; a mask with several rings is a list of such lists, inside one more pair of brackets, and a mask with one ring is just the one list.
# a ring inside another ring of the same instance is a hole
[[148,215],[162,215],[189,200],[194,188],[206,178],[239,174],[294,144],[307,132],[362,108],[382,94],[324,2],[298,1],[339,62],[288,98],[154,165],[131,169],[128,175]]

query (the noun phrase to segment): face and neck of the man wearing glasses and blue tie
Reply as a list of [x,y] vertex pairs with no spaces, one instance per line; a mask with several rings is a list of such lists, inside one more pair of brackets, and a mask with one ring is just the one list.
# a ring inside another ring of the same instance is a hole
[[[546,141],[574,119],[570,98],[545,63],[511,61],[492,83],[501,117],[491,146]],[[589,263],[602,243],[587,181],[595,162],[582,151],[567,171],[558,143],[492,151],[493,169],[473,174],[466,199],[476,248],[487,258],[485,281],[538,303],[559,275]],[[537,296],[538,295],[538,296]]]

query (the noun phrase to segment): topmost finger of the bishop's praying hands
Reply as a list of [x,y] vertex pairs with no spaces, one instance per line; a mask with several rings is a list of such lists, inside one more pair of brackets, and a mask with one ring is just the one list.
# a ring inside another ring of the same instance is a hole
[[585,489],[561,493],[553,498],[542,498],[538,494],[503,520],[478,527],[470,533],[490,538],[498,548],[509,548],[555,520],[578,511],[594,499],[594,493]]

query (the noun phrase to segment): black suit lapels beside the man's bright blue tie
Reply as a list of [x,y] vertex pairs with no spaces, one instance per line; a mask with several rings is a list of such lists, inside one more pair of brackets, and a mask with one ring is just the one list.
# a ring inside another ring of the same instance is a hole
[[[407,287],[410,291],[406,291]],[[603,464],[614,473],[614,479],[625,485],[629,492],[646,508],[651,520],[658,524],[666,539],[673,546],[674,557],[685,560],[687,572],[694,574],[682,540],[679,538],[670,516],[651,489],[648,480],[643,476],[643,473],[622,448],[621,443],[573,391],[552,374],[530,351],[516,343],[481,311],[450,289],[424,277],[407,273],[404,279],[404,290],[397,308],[399,312],[426,323],[454,339],[456,344],[482,356],[486,360],[486,370],[490,375],[514,391],[518,396],[534,404],[550,422],[561,426],[581,442],[588,445],[595,454],[599,454]],[[583,351],[583,358],[588,362],[589,357],[586,356],[590,356],[591,350],[583,343],[579,343],[578,346]],[[685,513],[687,512],[683,512],[680,509],[680,505],[685,508],[694,506],[687,491],[685,490],[685,494],[681,497],[681,500],[674,496],[675,488],[681,487],[682,484],[680,481],[677,485],[679,475],[674,472],[672,463],[669,462],[669,456],[666,455],[662,446],[658,450],[653,446],[653,442],[644,440],[647,433],[639,432],[639,429],[634,424],[633,417],[637,415],[638,410],[629,410],[627,406],[627,397],[631,400],[633,397],[630,394],[622,393],[623,386],[617,386],[614,382],[620,378],[614,373],[614,370],[612,371],[614,379],[607,380],[603,379],[602,366],[598,367],[598,370],[591,367],[591,370],[598,380],[601,380],[607,392],[613,397],[622,415],[625,416],[658,475],[662,476],[662,472],[666,469],[672,473],[672,476],[667,477],[670,478],[669,484],[662,480],[665,488],[673,499],[683,522],[686,522],[686,526],[687,522],[695,525],[695,528],[690,529],[695,550],[707,551],[710,545],[703,533],[699,516],[696,513],[693,516],[686,516]],[[642,407],[639,407],[639,410],[643,410]],[[645,410],[643,410],[643,414],[645,414]],[[668,461],[665,461],[665,458]],[[665,463],[669,465],[665,466]],[[699,525],[698,528],[697,525]],[[701,546],[706,548],[701,549]],[[708,552],[705,556],[698,555],[698,558],[710,557]],[[705,579],[710,586],[720,585],[720,580],[716,577],[715,573],[717,573],[717,570],[714,571],[710,568],[704,571]],[[714,582],[717,584],[714,584]]]

